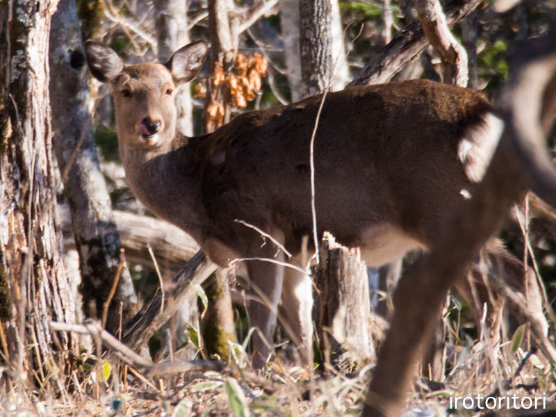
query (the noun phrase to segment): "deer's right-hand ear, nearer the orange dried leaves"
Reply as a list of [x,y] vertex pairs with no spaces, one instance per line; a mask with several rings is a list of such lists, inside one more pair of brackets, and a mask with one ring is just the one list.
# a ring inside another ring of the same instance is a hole
[[186,83],[193,80],[201,72],[208,45],[203,40],[190,43],[181,47],[166,63],[166,67],[172,73],[174,81]]

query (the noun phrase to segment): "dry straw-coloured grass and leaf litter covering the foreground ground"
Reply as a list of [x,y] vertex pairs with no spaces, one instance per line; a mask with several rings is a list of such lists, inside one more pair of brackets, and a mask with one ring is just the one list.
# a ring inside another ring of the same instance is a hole
[[[457,320],[448,329],[445,381],[417,379],[407,397],[407,416],[480,415],[477,410],[449,411],[450,397],[517,395],[556,401],[556,373],[541,354],[531,353],[528,332],[502,337],[496,347],[462,336]],[[327,364],[309,373],[278,359],[268,363],[264,388],[250,372],[247,354],[234,345],[234,357],[222,373],[188,373],[161,379],[133,373],[120,361],[83,366],[57,395],[17,382],[0,401],[3,416],[344,416],[359,414],[373,366],[349,375]],[[529,353],[529,355],[528,355]],[[524,358],[528,355],[528,358]],[[91,357],[89,357],[91,359]],[[521,368],[520,368],[521,367]],[[54,377],[54,376],[52,376]],[[508,385],[509,382],[509,385]],[[56,384],[53,384],[56,386]],[[496,390],[499,390],[498,392]],[[6,393],[6,394],[4,394]],[[500,394],[501,393],[501,394]],[[461,401],[461,400],[460,400]]]

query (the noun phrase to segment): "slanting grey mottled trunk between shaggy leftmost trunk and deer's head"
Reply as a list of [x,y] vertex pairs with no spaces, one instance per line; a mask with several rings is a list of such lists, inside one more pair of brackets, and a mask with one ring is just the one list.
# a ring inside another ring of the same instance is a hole
[[[50,82],[54,151],[72,213],[85,316],[95,316],[113,285],[120,238],[92,136],[87,65],[72,0],[61,0],[52,17],[50,49],[50,67],[56,74]],[[90,302],[95,303],[92,309]],[[120,323],[120,302],[126,320],[137,306],[129,272],[120,275],[108,309],[106,329],[112,333]]]

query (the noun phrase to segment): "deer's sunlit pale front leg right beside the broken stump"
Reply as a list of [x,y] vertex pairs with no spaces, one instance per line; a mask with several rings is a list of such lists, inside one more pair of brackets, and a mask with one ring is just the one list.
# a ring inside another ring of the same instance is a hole
[[[302,265],[304,268],[305,265]],[[309,275],[287,268],[284,270],[279,313],[302,362],[313,362],[313,284]]]

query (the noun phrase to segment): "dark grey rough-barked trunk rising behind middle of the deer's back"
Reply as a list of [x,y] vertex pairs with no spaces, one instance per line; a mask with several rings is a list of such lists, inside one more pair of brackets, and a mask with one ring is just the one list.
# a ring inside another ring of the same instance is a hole
[[300,53],[303,95],[309,97],[332,84],[331,0],[300,0]]

